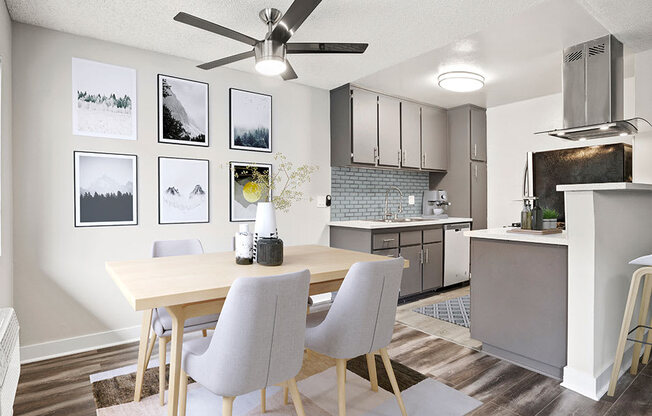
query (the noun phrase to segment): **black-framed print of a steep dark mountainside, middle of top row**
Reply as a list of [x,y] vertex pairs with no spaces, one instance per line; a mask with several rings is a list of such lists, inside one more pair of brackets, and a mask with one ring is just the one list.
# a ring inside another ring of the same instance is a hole
[[158,141],[208,147],[208,84],[159,74]]

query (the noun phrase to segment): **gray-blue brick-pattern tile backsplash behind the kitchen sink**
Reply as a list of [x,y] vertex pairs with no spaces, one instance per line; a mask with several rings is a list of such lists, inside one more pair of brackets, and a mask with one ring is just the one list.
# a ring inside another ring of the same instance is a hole
[[[331,168],[331,220],[364,220],[380,218],[385,209],[385,191],[390,186],[403,191],[403,216],[421,215],[423,191],[428,190],[428,172]],[[415,204],[408,205],[408,195]],[[390,194],[390,210],[396,212],[398,192]]]

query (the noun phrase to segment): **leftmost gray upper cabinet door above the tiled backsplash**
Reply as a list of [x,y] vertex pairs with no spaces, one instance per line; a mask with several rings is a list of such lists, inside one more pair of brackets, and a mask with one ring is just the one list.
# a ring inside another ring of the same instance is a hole
[[378,95],[351,90],[352,161],[375,165],[378,157]]

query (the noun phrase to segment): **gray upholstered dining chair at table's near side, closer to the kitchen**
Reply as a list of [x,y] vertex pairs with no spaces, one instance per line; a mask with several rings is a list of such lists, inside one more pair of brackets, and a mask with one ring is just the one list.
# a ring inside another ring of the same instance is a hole
[[330,309],[308,315],[306,348],[335,358],[339,416],[346,415],[346,361],[365,354],[371,390],[378,391],[375,353],[382,357],[403,416],[407,416],[387,345],[392,340],[403,258],[354,264]]

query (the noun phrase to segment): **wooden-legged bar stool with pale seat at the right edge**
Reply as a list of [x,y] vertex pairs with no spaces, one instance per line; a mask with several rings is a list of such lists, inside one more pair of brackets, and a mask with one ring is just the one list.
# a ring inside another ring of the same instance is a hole
[[[620,327],[620,337],[618,338],[618,347],[616,348],[616,358],[611,372],[609,390],[607,391],[608,396],[613,396],[616,391],[616,383],[618,382],[618,374],[620,373],[620,366],[623,362],[623,354],[625,353],[625,344],[627,341],[634,342],[632,367],[630,368],[630,373],[633,375],[638,371],[641,345],[645,345],[643,364],[647,364],[650,360],[650,350],[652,350],[652,327],[650,327],[647,322],[647,314],[650,308],[650,296],[652,296],[652,254],[632,260],[629,264],[637,264],[643,267],[634,272],[632,275],[632,282],[629,286],[629,295],[627,296],[627,304],[625,305],[623,324]],[[630,330],[629,326],[632,321],[632,316],[634,315],[634,306],[636,304],[636,297],[638,296],[641,280],[643,280],[643,294],[641,296],[641,307],[638,313],[638,324]],[[643,341],[643,335],[645,335],[646,328],[650,331],[648,331],[647,334],[647,341]],[[634,337],[629,338],[629,335],[633,332],[635,332]]]

